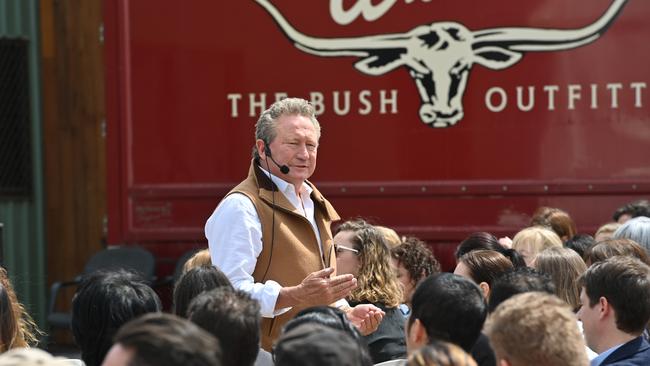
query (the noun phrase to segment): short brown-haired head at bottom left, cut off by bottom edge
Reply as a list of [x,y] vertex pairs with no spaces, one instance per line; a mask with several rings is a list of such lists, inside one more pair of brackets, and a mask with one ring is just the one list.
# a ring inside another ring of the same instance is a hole
[[221,366],[219,341],[187,319],[146,314],[115,335],[103,366]]

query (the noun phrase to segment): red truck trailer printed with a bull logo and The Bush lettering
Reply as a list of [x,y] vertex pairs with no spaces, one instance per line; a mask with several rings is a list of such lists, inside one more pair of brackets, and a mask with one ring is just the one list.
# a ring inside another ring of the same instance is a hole
[[310,99],[343,218],[431,243],[539,206],[593,234],[650,192],[650,2],[105,2],[108,241],[161,263],[247,174],[256,117]]

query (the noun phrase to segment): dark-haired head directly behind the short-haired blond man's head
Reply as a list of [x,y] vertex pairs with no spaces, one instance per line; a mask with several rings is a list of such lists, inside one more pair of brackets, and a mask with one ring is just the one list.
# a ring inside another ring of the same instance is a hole
[[512,296],[533,291],[555,294],[551,276],[530,267],[515,268],[494,280],[488,310],[492,313],[499,304]]

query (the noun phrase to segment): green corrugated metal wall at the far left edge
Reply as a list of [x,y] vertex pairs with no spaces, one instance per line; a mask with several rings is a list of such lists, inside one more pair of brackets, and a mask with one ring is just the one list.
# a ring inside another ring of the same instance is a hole
[[[45,227],[43,197],[42,115],[38,0],[0,0],[0,37],[29,40],[29,95],[32,145],[32,194],[28,198],[0,198],[4,223],[4,267],[18,298],[37,323],[45,322]],[[2,121],[0,121],[2,123]]]

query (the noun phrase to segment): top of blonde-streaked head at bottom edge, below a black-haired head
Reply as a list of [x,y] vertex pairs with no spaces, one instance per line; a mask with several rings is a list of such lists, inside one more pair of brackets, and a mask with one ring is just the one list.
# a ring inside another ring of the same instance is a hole
[[453,343],[433,341],[411,353],[407,366],[476,366],[476,361]]

